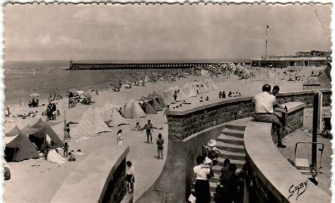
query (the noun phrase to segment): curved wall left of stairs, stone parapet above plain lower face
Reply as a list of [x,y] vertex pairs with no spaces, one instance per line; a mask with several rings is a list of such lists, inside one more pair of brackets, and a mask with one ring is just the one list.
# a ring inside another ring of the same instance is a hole
[[[331,105],[331,90],[321,90],[323,105]],[[288,102],[297,101],[312,107],[315,91],[283,93]],[[225,122],[251,117],[252,97],[209,100],[184,105],[167,112],[169,145],[165,166],[158,180],[137,202],[185,202],[190,168],[204,140],[218,137]],[[194,138],[199,137],[199,138]]]

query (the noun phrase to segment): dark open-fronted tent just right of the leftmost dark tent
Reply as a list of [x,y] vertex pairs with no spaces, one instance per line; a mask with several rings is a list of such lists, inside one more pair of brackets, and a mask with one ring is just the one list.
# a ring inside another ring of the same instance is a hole
[[33,142],[40,151],[44,151],[47,147],[55,149],[64,146],[63,141],[61,141],[56,132],[48,125],[36,129],[34,132],[28,132],[28,135],[30,141]]

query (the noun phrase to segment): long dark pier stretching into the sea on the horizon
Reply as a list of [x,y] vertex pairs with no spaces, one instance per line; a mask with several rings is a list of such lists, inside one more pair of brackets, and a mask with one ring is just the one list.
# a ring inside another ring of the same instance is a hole
[[188,69],[196,66],[221,65],[223,62],[199,63],[73,63],[70,61],[70,70],[105,70],[105,69]]

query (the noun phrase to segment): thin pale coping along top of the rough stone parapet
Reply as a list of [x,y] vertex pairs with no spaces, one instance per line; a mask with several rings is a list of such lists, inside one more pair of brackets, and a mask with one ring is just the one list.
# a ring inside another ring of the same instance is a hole
[[[281,96],[288,95],[303,95],[303,94],[312,94],[315,93],[316,90],[305,90],[305,91],[292,91],[288,93],[281,93]],[[320,89],[322,93],[331,93],[330,89]],[[240,101],[252,100],[253,96],[245,96],[239,98],[226,98],[226,99],[216,99],[216,100],[208,100],[202,103],[194,103],[191,105],[182,105],[181,108],[175,108],[173,110],[168,110],[166,112],[167,116],[169,115],[187,115],[192,112],[197,112],[199,110],[205,110],[208,108],[212,108],[218,105],[225,105],[230,103],[237,103]]]

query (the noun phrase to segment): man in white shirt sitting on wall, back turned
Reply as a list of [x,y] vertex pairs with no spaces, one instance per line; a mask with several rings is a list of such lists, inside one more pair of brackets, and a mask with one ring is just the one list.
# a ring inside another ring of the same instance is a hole
[[263,93],[254,95],[253,102],[255,103],[255,112],[252,115],[254,120],[258,122],[271,122],[276,127],[277,137],[278,137],[278,147],[286,148],[283,145],[281,139],[283,138],[283,124],[280,120],[274,115],[274,106],[276,107],[276,97],[271,95],[271,86],[265,84],[262,87]]

